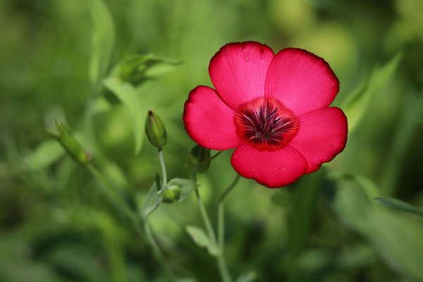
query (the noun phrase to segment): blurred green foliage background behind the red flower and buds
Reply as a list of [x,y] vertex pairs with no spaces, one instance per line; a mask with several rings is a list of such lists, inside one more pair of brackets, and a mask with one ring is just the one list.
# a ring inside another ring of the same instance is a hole
[[[422,216],[372,200],[423,207],[422,15],[421,0],[2,0],[0,281],[166,281],[147,242],[45,129],[54,118],[65,123],[135,209],[160,171],[143,113],[166,124],[168,178],[189,178],[195,144],[183,104],[195,86],[212,86],[216,51],[247,40],[328,61],[350,133],[342,154],[294,185],[243,179],[228,195],[233,278],[423,281]],[[102,85],[133,54],[159,59],[131,88],[139,107],[130,109]],[[230,157],[223,152],[199,176],[213,223],[235,176]],[[214,258],[185,232],[204,227],[194,197],[161,205],[149,220],[176,273],[219,281]]]

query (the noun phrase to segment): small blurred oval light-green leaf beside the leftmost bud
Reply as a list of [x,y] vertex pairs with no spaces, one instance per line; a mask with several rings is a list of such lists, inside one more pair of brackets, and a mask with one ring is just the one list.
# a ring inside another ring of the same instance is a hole
[[39,144],[28,159],[32,169],[45,168],[65,154],[65,151],[56,140],[46,140]]

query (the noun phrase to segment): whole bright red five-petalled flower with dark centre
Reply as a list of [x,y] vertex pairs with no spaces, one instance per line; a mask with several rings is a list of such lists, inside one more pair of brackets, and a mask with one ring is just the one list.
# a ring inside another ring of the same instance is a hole
[[212,58],[216,90],[197,86],[183,113],[202,147],[236,148],[231,164],[269,188],[293,183],[343,151],[347,119],[328,107],[339,80],[324,59],[302,49],[278,54],[258,42],[230,43]]

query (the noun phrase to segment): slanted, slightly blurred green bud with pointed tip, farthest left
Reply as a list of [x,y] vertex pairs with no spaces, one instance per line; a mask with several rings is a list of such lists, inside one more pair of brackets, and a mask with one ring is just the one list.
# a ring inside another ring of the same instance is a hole
[[68,152],[68,154],[79,164],[87,164],[91,161],[90,153],[80,145],[80,142],[75,139],[66,129],[63,123],[59,123],[58,121],[54,120],[56,123],[56,128],[58,132],[47,130],[50,137],[59,141],[62,147]]

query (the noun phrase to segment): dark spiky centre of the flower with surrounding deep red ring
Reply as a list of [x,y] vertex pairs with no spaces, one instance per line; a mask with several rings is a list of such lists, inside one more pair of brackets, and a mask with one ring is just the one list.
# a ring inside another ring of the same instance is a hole
[[271,98],[258,98],[240,106],[235,116],[237,134],[257,149],[273,151],[288,145],[298,132],[292,111]]

